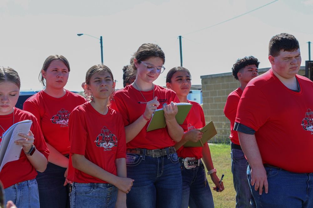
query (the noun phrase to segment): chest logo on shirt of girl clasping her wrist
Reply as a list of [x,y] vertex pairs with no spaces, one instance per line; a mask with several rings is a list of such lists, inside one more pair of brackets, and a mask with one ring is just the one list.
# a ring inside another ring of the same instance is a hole
[[101,133],[95,140],[97,147],[103,147],[104,151],[111,150],[112,147],[117,146],[117,138],[106,126],[101,129]]

